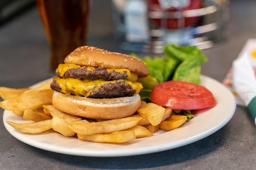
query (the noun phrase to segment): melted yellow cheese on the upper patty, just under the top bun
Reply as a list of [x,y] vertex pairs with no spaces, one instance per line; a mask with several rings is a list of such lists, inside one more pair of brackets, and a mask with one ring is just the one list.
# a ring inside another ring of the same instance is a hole
[[[67,63],[67,64],[59,64],[58,65],[58,71],[61,75],[61,77],[64,76],[64,74],[70,69],[70,68],[85,68],[86,66],[80,66],[80,65],[75,65],[75,64],[72,64],[72,63]],[[89,67],[87,66],[86,67],[87,70],[89,71],[94,71],[95,68],[94,67]],[[100,67],[99,67],[100,68]],[[119,72],[119,73],[125,73],[125,74],[128,74],[128,77],[127,79],[129,79],[131,77],[131,71],[126,69],[126,68],[121,68],[121,69],[115,69],[115,68],[107,68],[108,73],[110,73],[111,71],[116,71],[116,72]]]

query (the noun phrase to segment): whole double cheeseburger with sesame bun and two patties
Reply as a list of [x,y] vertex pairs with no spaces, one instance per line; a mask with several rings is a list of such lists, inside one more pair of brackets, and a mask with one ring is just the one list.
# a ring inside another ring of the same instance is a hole
[[148,75],[146,65],[126,54],[82,46],[72,51],[53,78],[52,105],[76,116],[116,119],[140,107],[143,88],[137,77]]

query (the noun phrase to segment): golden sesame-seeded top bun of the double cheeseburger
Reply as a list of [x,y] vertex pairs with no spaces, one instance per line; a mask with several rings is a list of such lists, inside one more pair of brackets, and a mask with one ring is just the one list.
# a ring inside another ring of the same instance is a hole
[[142,77],[148,75],[148,68],[139,59],[92,46],[76,48],[64,59],[64,62],[80,66],[126,68]]

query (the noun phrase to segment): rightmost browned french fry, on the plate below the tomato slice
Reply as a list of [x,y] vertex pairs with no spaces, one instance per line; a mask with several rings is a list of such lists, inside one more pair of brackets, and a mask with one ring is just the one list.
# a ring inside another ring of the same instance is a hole
[[160,123],[159,128],[163,130],[173,130],[183,125],[183,123],[186,122],[186,119],[187,116],[172,114],[169,118]]

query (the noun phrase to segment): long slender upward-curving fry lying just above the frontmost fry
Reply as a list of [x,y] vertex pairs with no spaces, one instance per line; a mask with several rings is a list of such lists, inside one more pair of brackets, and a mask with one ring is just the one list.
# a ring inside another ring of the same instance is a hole
[[105,120],[101,122],[76,123],[70,122],[68,127],[76,133],[82,135],[92,135],[96,133],[111,133],[128,129],[137,125],[140,117],[125,117],[119,119]]

